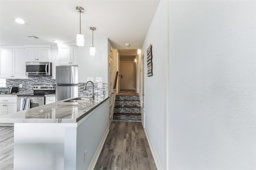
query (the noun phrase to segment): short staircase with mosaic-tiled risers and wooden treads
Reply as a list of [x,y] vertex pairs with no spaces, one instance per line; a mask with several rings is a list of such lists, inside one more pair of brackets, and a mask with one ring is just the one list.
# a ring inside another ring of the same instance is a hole
[[141,121],[140,96],[116,96],[113,121]]

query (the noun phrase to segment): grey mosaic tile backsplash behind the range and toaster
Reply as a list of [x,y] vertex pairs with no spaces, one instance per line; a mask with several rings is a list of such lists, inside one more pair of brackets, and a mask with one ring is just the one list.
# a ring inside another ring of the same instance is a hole
[[[19,85],[22,84],[22,88]],[[36,76],[35,79],[6,79],[6,87],[18,87],[20,94],[32,94],[32,87],[35,84],[56,84],[52,76]]]

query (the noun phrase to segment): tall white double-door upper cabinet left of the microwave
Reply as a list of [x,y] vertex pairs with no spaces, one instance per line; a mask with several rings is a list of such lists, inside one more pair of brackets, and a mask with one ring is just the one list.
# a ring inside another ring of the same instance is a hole
[[1,48],[0,78],[26,79],[25,61],[25,48]]

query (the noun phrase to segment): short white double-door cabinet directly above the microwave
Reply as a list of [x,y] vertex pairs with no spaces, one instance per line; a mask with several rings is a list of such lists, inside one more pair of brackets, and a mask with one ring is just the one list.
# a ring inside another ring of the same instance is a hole
[[50,61],[50,48],[26,47],[27,61]]

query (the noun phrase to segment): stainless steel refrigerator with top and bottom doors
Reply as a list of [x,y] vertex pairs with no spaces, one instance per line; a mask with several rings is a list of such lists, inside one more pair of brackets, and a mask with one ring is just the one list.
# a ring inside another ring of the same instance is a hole
[[56,101],[78,97],[78,66],[56,66]]

